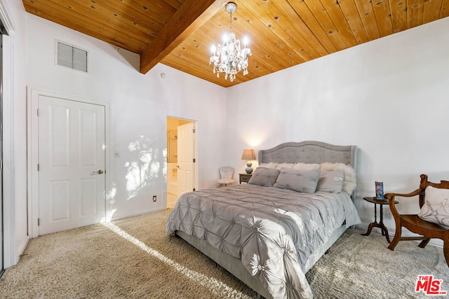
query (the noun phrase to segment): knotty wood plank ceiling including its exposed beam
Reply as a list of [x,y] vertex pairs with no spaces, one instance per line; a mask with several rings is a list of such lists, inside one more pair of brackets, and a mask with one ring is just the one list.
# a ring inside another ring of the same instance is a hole
[[[234,1],[232,32],[247,36],[249,74],[217,78],[210,46],[229,32],[226,1],[22,0],[28,13],[229,87],[449,16],[449,0]],[[70,41],[67,41],[70,43]]]

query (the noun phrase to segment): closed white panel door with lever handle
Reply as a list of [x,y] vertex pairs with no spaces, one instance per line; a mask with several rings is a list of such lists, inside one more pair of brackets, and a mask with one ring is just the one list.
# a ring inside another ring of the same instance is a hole
[[105,106],[39,96],[39,235],[105,218]]

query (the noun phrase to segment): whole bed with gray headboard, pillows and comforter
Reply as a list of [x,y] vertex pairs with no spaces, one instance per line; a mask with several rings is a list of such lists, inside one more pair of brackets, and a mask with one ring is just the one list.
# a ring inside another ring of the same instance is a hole
[[182,195],[166,232],[264,298],[311,298],[305,273],[360,223],[356,146],[288,142],[259,151],[258,162],[248,184]]

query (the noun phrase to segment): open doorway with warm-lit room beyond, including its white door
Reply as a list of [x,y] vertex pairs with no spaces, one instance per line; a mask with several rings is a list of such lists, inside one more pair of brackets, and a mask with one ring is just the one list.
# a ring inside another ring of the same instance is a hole
[[167,117],[167,208],[195,188],[195,123]]

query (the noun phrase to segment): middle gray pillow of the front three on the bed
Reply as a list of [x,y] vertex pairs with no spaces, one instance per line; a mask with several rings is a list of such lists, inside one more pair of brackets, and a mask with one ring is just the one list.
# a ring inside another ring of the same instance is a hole
[[315,193],[320,169],[298,170],[282,168],[273,187],[295,190],[297,192]]

